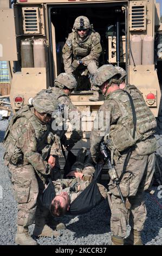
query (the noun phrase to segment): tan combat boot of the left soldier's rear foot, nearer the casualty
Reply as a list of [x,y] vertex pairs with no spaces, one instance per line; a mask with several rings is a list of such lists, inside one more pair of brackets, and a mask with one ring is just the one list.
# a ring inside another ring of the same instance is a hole
[[61,235],[60,231],[51,229],[45,224],[44,218],[35,219],[35,227],[33,231],[34,236],[46,236],[46,237],[57,237]]

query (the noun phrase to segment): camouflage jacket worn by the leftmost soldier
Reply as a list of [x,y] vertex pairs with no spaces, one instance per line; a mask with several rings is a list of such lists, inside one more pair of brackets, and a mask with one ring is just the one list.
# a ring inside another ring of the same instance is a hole
[[44,124],[36,117],[33,107],[22,107],[12,117],[5,132],[5,160],[15,165],[30,163],[37,172],[46,175],[48,164],[42,152],[49,146],[50,127],[50,124]]

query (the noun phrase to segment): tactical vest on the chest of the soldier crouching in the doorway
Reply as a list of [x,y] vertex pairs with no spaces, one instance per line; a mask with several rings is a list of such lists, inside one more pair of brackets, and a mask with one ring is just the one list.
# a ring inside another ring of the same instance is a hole
[[90,34],[85,39],[79,41],[77,32],[73,32],[72,45],[74,59],[79,59],[89,55],[92,48],[94,32],[90,31]]

